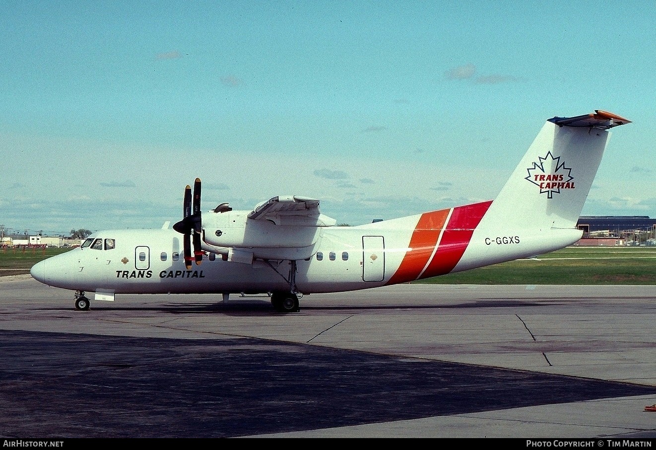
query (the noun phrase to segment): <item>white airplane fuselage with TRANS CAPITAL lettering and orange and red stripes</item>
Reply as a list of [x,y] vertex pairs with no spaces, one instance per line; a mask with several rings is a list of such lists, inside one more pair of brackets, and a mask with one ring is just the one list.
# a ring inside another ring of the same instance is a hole
[[176,231],[101,231],[91,236],[89,245],[42,261],[32,274],[51,286],[107,293],[351,291],[536,255],[580,238],[577,230],[561,231],[562,236],[552,231],[545,239],[546,231],[476,229],[490,204],[358,227],[326,227],[312,256],[295,266],[288,260],[226,261],[224,255],[205,252],[200,265],[188,268],[183,236]]

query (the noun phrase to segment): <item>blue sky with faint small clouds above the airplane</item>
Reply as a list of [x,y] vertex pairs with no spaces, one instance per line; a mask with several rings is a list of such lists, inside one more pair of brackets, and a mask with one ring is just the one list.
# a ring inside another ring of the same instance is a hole
[[584,215],[656,216],[656,3],[5,1],[0,224],[276,195],[369,223],[495,197],[544,121],[615,128]]

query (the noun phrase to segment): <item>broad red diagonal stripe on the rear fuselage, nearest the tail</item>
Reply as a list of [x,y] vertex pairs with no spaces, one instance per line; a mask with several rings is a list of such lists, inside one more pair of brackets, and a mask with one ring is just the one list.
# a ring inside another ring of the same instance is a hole
[[491,204],[492,202],[488,201],[453,208],[449,223],[442,234],[440,247],[421,278],[430,278],[453,271],[469,245],[474,229],[478,227]]

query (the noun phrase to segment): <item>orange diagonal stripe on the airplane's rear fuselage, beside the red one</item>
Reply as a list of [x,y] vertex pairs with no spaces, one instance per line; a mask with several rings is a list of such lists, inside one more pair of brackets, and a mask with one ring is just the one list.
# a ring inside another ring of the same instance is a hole
[[386,284],[398,284],[416,280],[428,258],[433,254],[440,231],[449,216],[449,210],[426,212],[419,217],[417,227],[410,238],[407,252],[403,255],[401,265]]

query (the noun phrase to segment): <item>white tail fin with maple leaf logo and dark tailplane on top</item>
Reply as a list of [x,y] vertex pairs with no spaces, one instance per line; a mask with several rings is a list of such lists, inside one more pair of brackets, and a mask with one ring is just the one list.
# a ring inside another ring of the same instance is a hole
[[549,119],[492,202],[482,227],[572,229],[608,143],[630,121],[605,111]]

